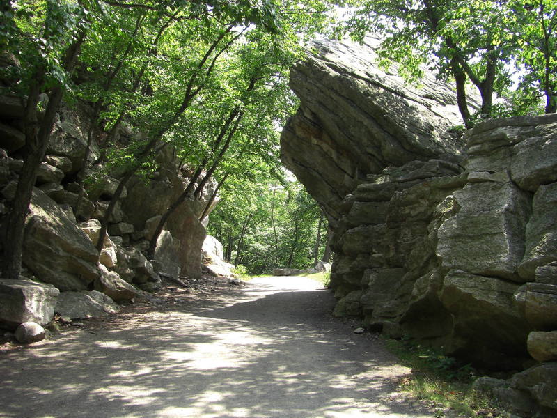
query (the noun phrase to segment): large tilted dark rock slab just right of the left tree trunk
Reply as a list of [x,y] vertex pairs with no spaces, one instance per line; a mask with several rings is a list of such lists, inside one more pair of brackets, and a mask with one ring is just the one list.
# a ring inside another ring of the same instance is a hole
[[61,291],[85,290],[99,277],[93,242],[39,189],[26,218],[23,263]]

